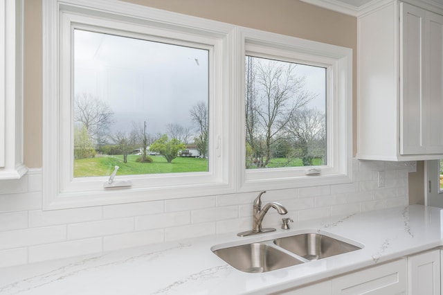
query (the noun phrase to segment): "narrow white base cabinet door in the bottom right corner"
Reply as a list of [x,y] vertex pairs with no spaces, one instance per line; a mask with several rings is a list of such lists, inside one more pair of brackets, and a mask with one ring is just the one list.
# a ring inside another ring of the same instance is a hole
[[440,295],[440,250],[408,257],[408,294]]

